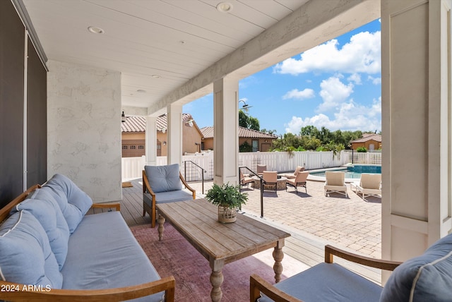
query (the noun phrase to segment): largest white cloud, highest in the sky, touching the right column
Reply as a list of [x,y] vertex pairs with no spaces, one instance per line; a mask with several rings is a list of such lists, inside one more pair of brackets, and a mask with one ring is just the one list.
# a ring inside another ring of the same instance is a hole
[[379,73],[381,33],[359,32],[342,49],[330,40],[302,53],[300,59],[286,59],[273,68],[275,73],[298,75],[309,72]]

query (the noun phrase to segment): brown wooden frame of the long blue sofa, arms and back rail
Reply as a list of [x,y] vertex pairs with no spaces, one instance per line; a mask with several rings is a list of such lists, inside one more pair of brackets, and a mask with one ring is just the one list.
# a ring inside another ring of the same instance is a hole
[[[41,188],[40,185],[31,186],[27,191],[20,194],[11,203],[0,209],[0,224],[9,216],[9,212],[21,203],[27,196]],[[120,210],[119,203],[98,203],[92,208],[115,208]],[[126,301],[133,298],[140,298],[165,291],[165,301],[174,302],[174,277],[165,277],[154,282],[148,282],[133,286],[124,286],[114,289],[50,289],[49,291],[31,290],[26,284],[5,282],[0,280],[1,289],[11,289],[0,291],[0,298],[6,301],[62,301],[62,302],[103,302],[103,301]]]

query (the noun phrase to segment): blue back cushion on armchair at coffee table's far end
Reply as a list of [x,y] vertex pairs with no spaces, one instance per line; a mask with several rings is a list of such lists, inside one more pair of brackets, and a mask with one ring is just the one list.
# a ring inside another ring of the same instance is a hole
[[167,166],[145,166],[146,176],[150,188],[154,193],[182,190],[182,181],[179,178],[179,164]]

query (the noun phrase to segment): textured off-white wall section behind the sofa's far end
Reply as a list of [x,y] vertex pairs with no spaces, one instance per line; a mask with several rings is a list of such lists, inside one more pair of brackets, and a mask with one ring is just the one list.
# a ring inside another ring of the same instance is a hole
[[48,177],[68,176],[93,202],[121,200],[121,73],[47,66]]

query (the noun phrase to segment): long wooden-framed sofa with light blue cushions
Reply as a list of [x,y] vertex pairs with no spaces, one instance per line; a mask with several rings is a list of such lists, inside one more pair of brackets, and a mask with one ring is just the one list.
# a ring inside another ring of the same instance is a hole
[[93,205],[66,176],[29,188],[0,221],[0,300],[174,301],[174,277],[160,278],[119,204]]

